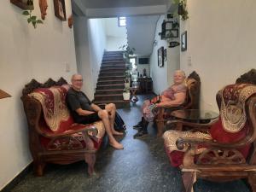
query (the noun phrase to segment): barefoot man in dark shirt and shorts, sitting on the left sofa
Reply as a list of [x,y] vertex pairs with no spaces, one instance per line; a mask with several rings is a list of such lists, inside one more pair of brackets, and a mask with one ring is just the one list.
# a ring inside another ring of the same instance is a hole
[[67,107],[70,109],[74,121],[79,124],[90,124],[102,120],[108,134],[109,144],[113,148],[124,148],[113,137],[113,135],[123,135],[122,132],[113,129],[115,105],[110,103],[105,106],[105,109],[102,109],[90,102],[84,92],[81,91],[83,78],[80,74],[74,74],[71,83],[72,87],[67,91]]

